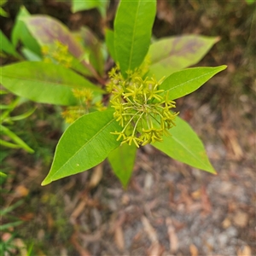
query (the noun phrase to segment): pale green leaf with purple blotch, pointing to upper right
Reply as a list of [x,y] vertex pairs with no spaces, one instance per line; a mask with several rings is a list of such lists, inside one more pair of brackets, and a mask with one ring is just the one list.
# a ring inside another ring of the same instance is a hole
[[218,40],[198,35],[161,38],[148,50],[151,61],[149,75],[154,74],[156,79],[161,79],[196,64]]

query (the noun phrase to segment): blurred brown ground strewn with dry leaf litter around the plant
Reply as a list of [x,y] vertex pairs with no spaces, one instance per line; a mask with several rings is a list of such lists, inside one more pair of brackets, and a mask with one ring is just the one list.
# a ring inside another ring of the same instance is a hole
[[[42,10],[36,7],[34,12]],[[55,8],[72,29],[87,25],[101,37],[95,10],[72,15],[63,3],[44,3],[44,13],[55,15]],[[4,202],[24,197],[15,212],[24,220],[18,234],[33,243],[35,255],[256,255],[253,9],[243,1],[158,3],[156,38],[184,33],[222,38],[197,66],[226,64],[227,70],[177,101],[180,116],[201,137],[218,175],[147,146],[137,153],[127,189],[107,161],[42,188],[49,170],[45,157],[9,156],[13,176],[7,185],[14,194]],[[55,113],[50,106],[44,111]],[[42,131],[53,149],[61,131],[51,122],[42,120],[33,129]]]

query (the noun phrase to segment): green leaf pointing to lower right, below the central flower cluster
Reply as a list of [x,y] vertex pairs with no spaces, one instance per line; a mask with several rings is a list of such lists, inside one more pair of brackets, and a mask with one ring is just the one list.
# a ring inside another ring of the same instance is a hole
[[172,136],[152,144],[154,148],[189,166],[216,174],[200,138],[183,119],[176,117],[176,126],[170,132]]

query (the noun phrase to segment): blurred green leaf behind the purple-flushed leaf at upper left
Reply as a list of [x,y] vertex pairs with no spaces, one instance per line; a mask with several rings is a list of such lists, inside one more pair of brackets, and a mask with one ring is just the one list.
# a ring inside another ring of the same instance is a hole
[[23,18],[30,16],[30,13],[26,10],[24,6],[22,6],[15,20],[15,26],[12,30],[11,40],[15,47],[20,40],[27,49],[30,49],[33,53],[41,56],[41,50],[38,42],[35,38],[32,37],[32,34],[26,28],[26,24],[24,24],[24,22],[22,21]]

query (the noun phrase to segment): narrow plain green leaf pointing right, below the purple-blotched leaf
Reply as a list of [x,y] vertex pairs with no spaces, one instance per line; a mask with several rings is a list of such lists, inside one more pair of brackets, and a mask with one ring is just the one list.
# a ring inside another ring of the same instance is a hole
[[159,89],[168,93],[170,100],[175,100],[197,90],[216,73],[224,70],[227,66],[219,67],[192,67],[172,73],[160,84]]

